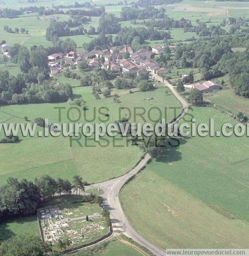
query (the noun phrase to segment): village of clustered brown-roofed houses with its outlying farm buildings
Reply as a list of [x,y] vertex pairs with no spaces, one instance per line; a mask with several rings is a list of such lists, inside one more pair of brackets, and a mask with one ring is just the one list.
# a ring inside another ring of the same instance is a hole
[[[168,45],[171,52],[174,52],[175,45]],[[7,43],[1,45],[2,53],[8,55],[11,46]],[[165,46],[154,45],[152,50],[142,48],[133,51],[131,46],[117,47],[110,46],[106,49],[94,49],[87,53],[81,51],[70,51],[66,54],[56,52],[47,56],[50,76],[56,75],[66,69],[77,69],[80,64],[84,64],[85,69],[102,68],[110,69],[117,73],[138,75],[139,73],[157,74],[165,76],[170,70],[160,67],[153,58],[154,55],[161,54]],[[187,74],[179,77],[183,80]],[[185,88],[195,88],[201,92],[213,92],[221,87],[213,81],[203,83],[184,84]]]

